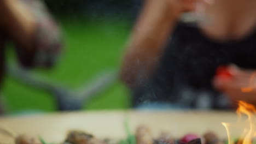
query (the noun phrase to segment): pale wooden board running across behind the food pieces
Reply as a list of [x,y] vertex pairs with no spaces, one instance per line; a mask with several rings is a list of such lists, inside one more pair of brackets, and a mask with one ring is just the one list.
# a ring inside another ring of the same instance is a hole
[[[124,120],[129,119],[132,131],[138,125],[148,125],[153,135],[170,131],[179,137],[186,133],[203,134],[208,130],[226,137],[221,122],[236,122],[233,112],[220,111],[86,111],[51,113],[47,115],[2,117],[0,127],[8,127],[18,134],[42,136],[49,142],[61,142],[68,130],[84,130],[97,137],[122,139],[126,136]],[[235,135],[240,135],[235,131]],[[0,141],[11,143],[9,137],[0,135]]]

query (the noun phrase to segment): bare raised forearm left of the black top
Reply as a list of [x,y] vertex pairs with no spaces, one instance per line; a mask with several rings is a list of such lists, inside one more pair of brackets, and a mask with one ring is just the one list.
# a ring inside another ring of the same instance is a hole
[[130,88],[147,80],[183,11],[193,9],[193,1],[146,0],[126,46],[121,79]]

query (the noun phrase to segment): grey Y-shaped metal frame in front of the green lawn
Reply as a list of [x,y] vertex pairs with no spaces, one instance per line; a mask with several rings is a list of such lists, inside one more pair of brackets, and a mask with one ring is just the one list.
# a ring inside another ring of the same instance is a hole
[[86,101],[95,97],[96,94],[105,91],[118,80],[118,72],[116,70],[105,71],[89,84],[74,91],[73,89],[69,89],[60,84],[48,82],[18,66],[13,65],[8,67],[8,73],[25,85],[43,89],[44,91],[51,93],[56,100],[57,110],[59,111],[82,109]]

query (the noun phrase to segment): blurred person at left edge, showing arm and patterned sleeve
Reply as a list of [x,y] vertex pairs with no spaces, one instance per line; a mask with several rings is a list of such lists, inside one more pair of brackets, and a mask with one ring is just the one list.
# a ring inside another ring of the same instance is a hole
[[44,3],[38,0],[1,0],[1,85],[5,71],[6,41],[15,44],[18,62],[25,68],[51,67],[62,45],[61,31]]

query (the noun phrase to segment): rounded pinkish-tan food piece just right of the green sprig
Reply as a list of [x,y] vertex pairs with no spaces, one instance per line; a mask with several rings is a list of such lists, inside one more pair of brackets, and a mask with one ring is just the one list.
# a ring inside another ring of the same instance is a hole
[[140,126],[136,130],[137,144],[153,144],[154,140],[148,127]]

